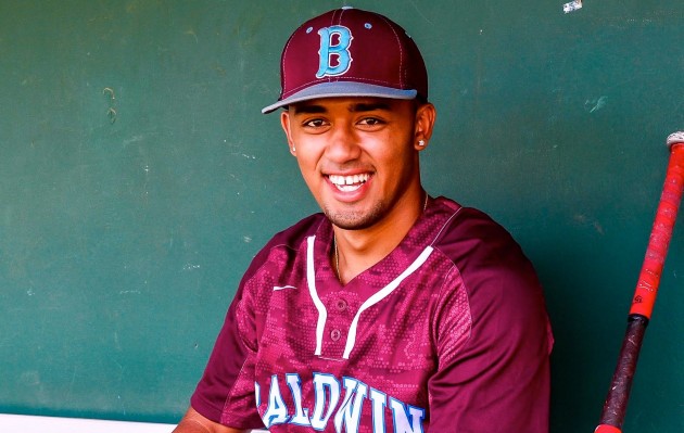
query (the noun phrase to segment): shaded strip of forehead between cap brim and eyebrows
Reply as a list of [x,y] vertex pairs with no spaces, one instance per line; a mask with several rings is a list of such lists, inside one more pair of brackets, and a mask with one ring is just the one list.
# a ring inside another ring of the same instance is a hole
[[335,111],[350,113],[370,111],[403,112],[406,107],[410,107],[413,103],[413,100],[375,97],[319,98],[291,104],[289,110],[294,114]]

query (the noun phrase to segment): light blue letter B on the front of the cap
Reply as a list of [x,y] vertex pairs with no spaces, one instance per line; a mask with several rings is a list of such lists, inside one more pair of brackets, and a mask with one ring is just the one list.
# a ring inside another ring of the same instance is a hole
[[[352,44],[352,31],[344,26],[324,27],[318,30],[320,35],[320,50],[318,51],[319,63],[316,78],[335,77],[344,74],[352,66],[352,53],[350,46]],[[333,38],[338,41],[333,44]],[[332,60],[337,61],[332,65]]]

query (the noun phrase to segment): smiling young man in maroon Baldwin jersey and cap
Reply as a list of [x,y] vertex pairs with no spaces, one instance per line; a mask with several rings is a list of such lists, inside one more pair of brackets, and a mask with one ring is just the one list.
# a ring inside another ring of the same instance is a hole
[[281,84],[264,112],[322,214],[254,258],[176,431],[547,432],[542,290],[502,227],[421,187],[435,109],[410,37],[328,12]]

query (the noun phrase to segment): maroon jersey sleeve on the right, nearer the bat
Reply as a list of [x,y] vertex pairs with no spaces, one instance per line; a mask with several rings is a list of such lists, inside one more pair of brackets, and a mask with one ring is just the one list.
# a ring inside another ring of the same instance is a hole
[[553,336],[542,289],[508,233],[481,222],[465,224],[466,241],[451,245],[430,431],[547,433]]

